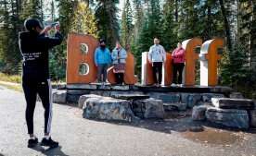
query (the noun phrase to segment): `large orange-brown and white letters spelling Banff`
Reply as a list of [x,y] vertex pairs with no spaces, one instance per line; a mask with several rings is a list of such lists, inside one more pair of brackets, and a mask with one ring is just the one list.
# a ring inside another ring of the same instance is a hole
[[[217,66],[221,59],[219,49],[224,47],[223,39],[212,39],[202,43],[201,39],[193,38],[184,41],[186,50],[186,66],[184,69],[183,84],[195,85],[196,66],[200,63],[200,85],[216,86],[218,84]],[[94,54],[98,42],[90,35],[70,33],[67,47],[67,84],[88,84],[96,81],[97,68],[94,62]],[[166,63],[162,72],[162,85],[168,86],[173,82],[172,54],[167,53]],[[134,85],[137,78],[134,76],[134,55],[127,53],[124,83]],[[147,58],[147,52],[142,53],[141,84],[154,84],[153,69]],[[113,66],[108,69],[108,81],[115,84]]]

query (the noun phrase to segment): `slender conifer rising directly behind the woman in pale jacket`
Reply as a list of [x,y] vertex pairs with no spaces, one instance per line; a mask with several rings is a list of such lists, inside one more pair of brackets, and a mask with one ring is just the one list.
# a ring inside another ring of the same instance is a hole
[[132,32],[134,29],[133,15],[130,0],[125,1],[125,5],[122,10],[122,30],[121,30],[121,42],[127,49],[130,48],[132,40]]

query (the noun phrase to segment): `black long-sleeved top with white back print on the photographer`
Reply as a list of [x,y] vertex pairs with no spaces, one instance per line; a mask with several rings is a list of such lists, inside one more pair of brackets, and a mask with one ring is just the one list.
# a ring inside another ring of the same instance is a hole
[[49,78],[48,50],[62,40],[59,32],[54,38],[46,37],[45,34],[19,32],[19,49],[23,56],[22,77],[32,80]]

